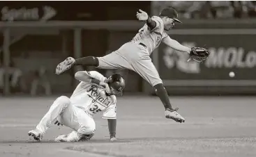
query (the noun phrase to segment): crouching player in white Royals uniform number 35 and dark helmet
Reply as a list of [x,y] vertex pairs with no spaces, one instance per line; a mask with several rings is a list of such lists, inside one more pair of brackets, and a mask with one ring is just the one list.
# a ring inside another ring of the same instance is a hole
[[122,95],[125,81],[119,74],[105,78],[102,74],[91,71],[76,72],[75,78],[80,82],[70,98],[57,98],[36,129],[29,135],[40,141],[51,124],[62,124],[74,131],[68,135],[59,135],[55,142],[77,142],[89,140],[96,130],[93,115],[103,111],[107,119],[110,140],[116,140],[116,95]]

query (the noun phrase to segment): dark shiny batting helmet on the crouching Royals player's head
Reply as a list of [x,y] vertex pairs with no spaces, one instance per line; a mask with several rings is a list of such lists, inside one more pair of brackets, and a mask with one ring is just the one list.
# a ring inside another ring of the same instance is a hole
[[123,95],[123,89],[126,87],[126,82],[120,74],[112,74],[109,79],[109,86],[112,94]]

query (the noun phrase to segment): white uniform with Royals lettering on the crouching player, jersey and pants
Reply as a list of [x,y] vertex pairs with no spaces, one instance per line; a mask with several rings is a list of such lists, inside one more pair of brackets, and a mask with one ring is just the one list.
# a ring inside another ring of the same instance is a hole
[[[104,81],[106,78],[96,72],[87,72],[92,78]],[[116,97],[100,95],[103,88],[94,83],[80,82],[70,98],[57,98],[50,110],[36,126],[41,133],[45,133],[51,124],[58,122],[74,129],[71,134],[73,141],[78,141],[83,135],[93,134],[96,124],[93,115],[103,111],[104,119],[116,119]]]

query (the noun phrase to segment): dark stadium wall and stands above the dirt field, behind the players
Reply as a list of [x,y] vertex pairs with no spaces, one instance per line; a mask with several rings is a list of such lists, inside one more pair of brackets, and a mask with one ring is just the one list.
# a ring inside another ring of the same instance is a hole
[[[158,15],[161,8],[179,11],[183,24],[168,32],[182,44],[211,51],[205,63],[186,63],[187,57],[161,44],[153,63],[169,94],[255,94],[254,1],[1,1],[0,87],[6,95],[70,93],[77,81],[76,67],[56,75],[56,65],[67,56],[104,56],[133,38],[143,22],[140,8]],[[126,94],[153,94],[148,83],[128,70]],[[235,72],[229,78],[229,72]]]

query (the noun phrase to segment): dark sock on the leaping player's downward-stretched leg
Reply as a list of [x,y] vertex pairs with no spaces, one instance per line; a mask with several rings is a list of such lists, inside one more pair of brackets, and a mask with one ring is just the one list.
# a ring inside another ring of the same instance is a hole
[[165,109],[169,108],[170,110],[173,110],[172,105],[170,103],[169,96],[167,94],[167,91],[165,90],[165,87],[163,86],[163,83],[159,83],[153,86],[153,88],[155,88],[156,94],[162,101],[163,106],[165,106]]

